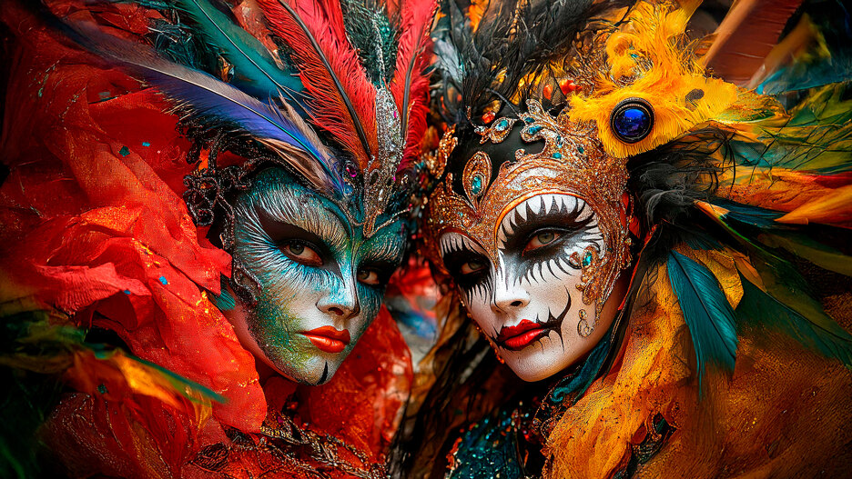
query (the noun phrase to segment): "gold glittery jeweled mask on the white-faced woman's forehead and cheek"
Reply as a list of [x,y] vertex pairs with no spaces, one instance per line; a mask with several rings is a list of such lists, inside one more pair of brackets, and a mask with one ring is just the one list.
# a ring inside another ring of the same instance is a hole
[[[619,273],[630,264],[626,160],[604,153],[593,124],[570,122],[567,110],[554,117],[535,100],[527,102],[525,113],[477,126],[475,134],[480,145],[502,144],[516,125],[525,144],[543,142],[543,149],[529,154],[524,148],[515,150],[513,159],[499,165],[496,175],[497,165],[492,165],[490,156],[475,151],[469,158],[458,158],[464,162],[461,182],[445,171],[459,144],[454,128],[441,138],[430,165],[434,175],[443,175],[443,181],[429,199],[427,254],[442,269],[438,240],[444,233],[458,231],[478,242],[496,263],[499,226],[515,205],[545,193],[580,197],[599,217],[604,251],[589,246],[583,254],[573,254],[571,262],[582,272],[577,287],[583,291],[583,303],[595,304],[595,313],[600,314]],[[590,332],[583,333],[581,326],[581,335]]]

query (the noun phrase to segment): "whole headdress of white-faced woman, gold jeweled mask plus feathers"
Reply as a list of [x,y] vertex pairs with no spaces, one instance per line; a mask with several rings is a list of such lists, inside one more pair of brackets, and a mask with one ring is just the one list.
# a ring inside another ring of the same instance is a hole
[[[838,101],[847,85],[814,88],[809,96],[797,97],[800,104],[789,112],[775,97],[743,88],[798,89],[794,82],[802,70],[786,71],[780,60],[762,64],[759,59],[767,52],[752,61],[752,55],[743,54],[753,50],[751,44],[691,36],[687,26],[700,4],[492,0],[466,9],[449,0],[442,4],[444,15],[433,34],[441,53],[433,89],[441,93],[435,108],[450,127],[431,164],[441,178],[430,198],[425,232],[434,264],[441,268],[437,241],[451,229],[476,235],[491,254],[496,229],[485,231],[483,224],[499,225],[501,212],[533,190],[583,196],[600,216],[606,238],[600,257],[575,258],[574,265],[583,268],[583,287],[591,288],[583,290],[583,300],[605,295],[612,273],[597,269],[589,274],[594,267],[587,264],[619,269],[628,264],[629,228],[643,248],[624,310],[639,301],[643,284],[657,281],[656,268],[667,264],[690,331],[704,331],[710,321],[709,327],[723,332],[712,337],[695,333],[699,364],[712,358],[733,366],[734,317],[693,308],[701,301],[695,294],[705,292],[690,286],[707,280],[716,291],[726,280],[717,282],[715,272],[685,261],[677,251],[727,252],[740,258],[731,267],[758,288],[765,287],[765,280],[775,282],[767,278],[778,271],[793,277],[779,264],[759,274],[756,269],[775,261],[765,255],[766,248],[802,251],[767,243],[771,235],[806,224],[805,218],[838,223],[837,216],[817,213],[817,206],[802,198],[824,194],[815,191],[819,180],[808,175],[846,171],[845,147],[829,158],[833,148],[826,145],[834,140],[817,145],[812,139],[821,135],[817,132],[831,131],[836,139],[848,135],[847,116],[817,113]],[[719,31],[742,32],[746,24],[736,22],[761,21],[758,14],[749,15],[729,15],[732,20],[728,24],[726,19]],[[768,45],[780,35],[778,25],[761,33]],[[818,45],[822,40],[812,41]],[[782,52],[789,47],[778,45]],[[744,57],[748,60],[741,61]],[[820,62],[831,59],[817,55],[812,61],[824,65]],[[817,190],[823,191],[821,186]],[[832,210],[827,201],[820,207]],[[628,225],[628,215],[637,221]],[[756,235],[761,244],[747,235]],[[735,253],[744,245],[745,253]],[[740,262],[746,257],[757,259],[750,266]],[[784,291],[767,294],[771,301],[786,301]]]

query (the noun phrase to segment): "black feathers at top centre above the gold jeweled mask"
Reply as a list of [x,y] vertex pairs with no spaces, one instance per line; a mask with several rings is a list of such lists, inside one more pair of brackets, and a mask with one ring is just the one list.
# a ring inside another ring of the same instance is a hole
[[[474,32],[463,18],[465,5],[458,0],[443,2],[445,16],[433,38],[436,53],[449,56],[435,65],[433,93],[442,94],[438,107],[451,123],[464,124],[495,100],[514,99],[514,105],[523,105],[543,84],[522,85],[522,78],[542,74],[554,59],[571,57],[577,34],[587,27],[598,28],[593,26],[595,17],[633,3],[492,1]],[[553,75],[542,78],[553,82]]]

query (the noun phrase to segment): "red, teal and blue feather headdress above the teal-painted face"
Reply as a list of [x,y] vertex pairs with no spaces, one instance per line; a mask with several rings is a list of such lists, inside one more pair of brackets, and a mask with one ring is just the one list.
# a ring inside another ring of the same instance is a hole
[[433,3],[259,0],[262,19],[209,0],[139,3],[159,13],[143,42],[79,20],[65,29],[174,103],[200,144],[191,159],[210,150],[186,182],[199,225],[212,221],[219,190],[242,181],[217,179],[216,150],[287,166],[368,236],[407,207],[405,169],[419,154],[428,106]]

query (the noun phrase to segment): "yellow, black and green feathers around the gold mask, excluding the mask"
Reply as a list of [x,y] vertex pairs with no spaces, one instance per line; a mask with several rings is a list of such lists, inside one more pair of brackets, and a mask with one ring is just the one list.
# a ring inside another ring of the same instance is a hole
[[[720,25],[724,35],[690,40],[686,25],[700,2],[581,4],[489,2],[467,12],[455,2],[444,4],[450,21],[436,30],[435,45],[449,58],[437,68],[436,84],[444,93],[437,107],[454,119],[456,136],[489,125],[498,112],[522,110],[530,98],[562,110],[560,121],[593,125],[605,153],[627,160],[628,192],[646,244],[637,271],[667,264],[699,366],[713,361],[733,367],[737,304],[722,301],[724,282],[705,265],[671,251],[677,244],[740,258],[736,269],[754,285],[756,300],[785,307],[790,321],[798,322],[790,324],[798,328],[796,337],[852,365],[852,337],[816,300],[792,294],[806,291],[806,282],[784,259],[792,254],[826,274],[852,273],[852,259],[837,244],[810,235],[817,226],[807,226],[849,225],[847,84],[830,83],[841,74],[811,85],[785,109],[775,97],[707,75],[705,65],[715,65],[717,73],[745,85],[789,70],[776,65],[775,72],[766,71],[762,62],[728,70],[723,59],[740,54],[727,39],[745,35],[731,26],[735,19]],[[750,27],[750,35],[760,37],[754,41],[775,45],[798,4],[765,5],[773,15]],[[732,17],[741,8],[737,4]],[[807,16],[802,21],[810,22]],[[553,35],[556,27],[570,35]],[[714,38],[719,43],[712,44]],[[763,57],[771,48],[766,50]],[[637,140],[624,141],[612,122],[627,100],[653,105],[653,127]],[[459,155],[455,161],[461,164],[445,167],[461,171],[469,157]],[[796,188],[795,194],[787,188]],[[640,283],[642,277],[635,277],[634,284]]]

